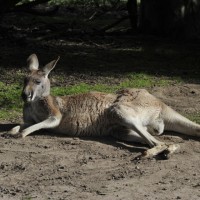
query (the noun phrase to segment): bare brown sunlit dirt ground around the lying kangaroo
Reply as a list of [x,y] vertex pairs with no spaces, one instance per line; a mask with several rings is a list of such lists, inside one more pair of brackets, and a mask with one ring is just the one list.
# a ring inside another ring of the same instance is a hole
[[[200,86],[151,91],[182,113],[200,112]],[[0,124],[1,132],[11,128]],[[0,138],[0,199],[200,199],[200,142],[167,133],[179,143],[168,160],[134,158],[143,145],[112,138],[68,138],[42,131],[25,139]]]

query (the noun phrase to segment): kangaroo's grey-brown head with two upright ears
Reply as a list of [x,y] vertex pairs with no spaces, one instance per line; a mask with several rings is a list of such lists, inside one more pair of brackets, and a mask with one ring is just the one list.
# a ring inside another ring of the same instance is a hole
[[50,81],[48,75],[56,66],[57,60],[53,60],[43,68],[39,68],[39,61],[35,54],[27,59],[29,74],[24,79],[22,98],[25,102],[33,102],[50,94]]

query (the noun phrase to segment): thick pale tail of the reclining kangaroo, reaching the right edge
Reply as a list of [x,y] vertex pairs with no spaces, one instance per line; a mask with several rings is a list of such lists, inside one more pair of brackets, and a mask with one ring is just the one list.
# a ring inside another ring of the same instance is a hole
[[180,115],[167,105],[163,106],[162,118],[165,130],[200,137],[200,125]]

